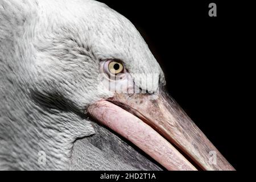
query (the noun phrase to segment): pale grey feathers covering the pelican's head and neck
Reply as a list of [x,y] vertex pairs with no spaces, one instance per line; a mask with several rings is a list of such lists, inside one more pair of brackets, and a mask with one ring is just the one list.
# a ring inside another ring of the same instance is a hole
[[[108,6],[1,0],[0,169],[160,169],[125,140],[94,129],[84,114],[113,96],[97,80],[100,60],[112,57],[135,78],[156,73],[165,82],[139,32]],[[157,89],[158,81],[150,84]],[[46,164],[38,162],[40,151]]]

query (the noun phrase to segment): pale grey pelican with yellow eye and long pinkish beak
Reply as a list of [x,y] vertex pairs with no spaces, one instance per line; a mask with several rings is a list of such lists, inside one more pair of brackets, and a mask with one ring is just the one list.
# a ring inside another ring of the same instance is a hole
[[0,74],[1,170],[234,170],[104,3],[1,0]]

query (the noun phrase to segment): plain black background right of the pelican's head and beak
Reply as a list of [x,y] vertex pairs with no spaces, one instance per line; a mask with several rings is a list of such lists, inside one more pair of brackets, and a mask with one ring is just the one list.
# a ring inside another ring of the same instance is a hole
[[[141,32],[171,96],[237,170],[243,169],[242,9],[234,1],[102,1]],[[217,17],[209,17],[209,3]],[[244,58],[244,57],[243,57]],[[240,61],[237,61],[240,60]],[[248,154],[249,155],[249,154]]]

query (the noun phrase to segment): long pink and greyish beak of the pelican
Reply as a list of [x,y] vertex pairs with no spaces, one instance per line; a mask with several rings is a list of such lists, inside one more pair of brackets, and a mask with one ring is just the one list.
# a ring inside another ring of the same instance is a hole
[[116,94],[88,112],[168,170],[235,170],[162,89],[155,99]]

